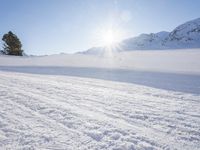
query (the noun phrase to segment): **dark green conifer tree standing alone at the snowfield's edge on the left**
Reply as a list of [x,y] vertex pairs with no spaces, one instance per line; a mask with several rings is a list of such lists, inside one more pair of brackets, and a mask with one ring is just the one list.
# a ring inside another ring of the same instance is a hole
[[11,31],[9,31],[7,34],[3,35],[2,40],[4,43],[4,53],[7,55],[16,55],[16,56],[22,56],[23,50],[22,44],[19,40],[19,38],[13,34]]

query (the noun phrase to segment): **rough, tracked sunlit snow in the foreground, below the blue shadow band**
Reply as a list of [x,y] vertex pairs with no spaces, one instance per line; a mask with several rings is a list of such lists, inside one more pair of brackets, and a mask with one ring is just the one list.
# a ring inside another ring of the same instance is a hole
[[0,71],[0,149],[200,149],[200,95]]

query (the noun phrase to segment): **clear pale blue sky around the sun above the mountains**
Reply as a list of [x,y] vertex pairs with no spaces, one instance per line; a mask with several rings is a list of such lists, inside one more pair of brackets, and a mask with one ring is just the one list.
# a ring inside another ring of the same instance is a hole
[[0,36],[13,31],[27,54],[73,53],[104,44],[109,28],[118,40],[171,31],[199,8],[200,0],[0,0]]

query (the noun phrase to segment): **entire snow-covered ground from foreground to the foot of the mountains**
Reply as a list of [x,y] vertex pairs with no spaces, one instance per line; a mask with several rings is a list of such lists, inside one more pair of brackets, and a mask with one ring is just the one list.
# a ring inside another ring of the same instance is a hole
[[200,50],[0,56],[0,150],[199,150]]

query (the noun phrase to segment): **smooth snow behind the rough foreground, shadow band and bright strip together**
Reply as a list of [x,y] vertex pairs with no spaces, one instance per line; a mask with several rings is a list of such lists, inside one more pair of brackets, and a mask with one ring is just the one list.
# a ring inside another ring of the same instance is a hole
[[157,50],[42,57],[0,56],[0,70],[78,76],[200,94],[200,50]]

